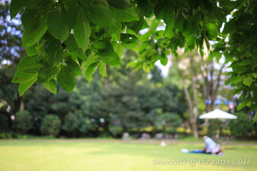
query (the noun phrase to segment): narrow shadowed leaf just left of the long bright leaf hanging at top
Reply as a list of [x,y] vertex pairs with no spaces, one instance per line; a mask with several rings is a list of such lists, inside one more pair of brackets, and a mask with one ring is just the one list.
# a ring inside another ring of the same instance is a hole
[[66,22],[68,23],[69,30],[71,30],[76,23],[76,17],[78,14],[77,6],[78,6],[78,3],[75,3],[75,5],[71,6],[64,13],[65,19],[67,20]]

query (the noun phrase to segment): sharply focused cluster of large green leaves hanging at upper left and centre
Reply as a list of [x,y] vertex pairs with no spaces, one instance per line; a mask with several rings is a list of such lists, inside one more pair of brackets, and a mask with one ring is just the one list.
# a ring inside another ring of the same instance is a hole
[[138,33],[146,23],[128,0],[12,0],[11,19],[24,7],[22,46],[28,56],[12,80],[20,83],[20,96],[36,80],[54,94],[57,80],[71,93],[81,68],[88,82],[96,68],[107,77],[106,64],[120,66],[124,48],[138,45],[135,35],[123,33],[125,28]]

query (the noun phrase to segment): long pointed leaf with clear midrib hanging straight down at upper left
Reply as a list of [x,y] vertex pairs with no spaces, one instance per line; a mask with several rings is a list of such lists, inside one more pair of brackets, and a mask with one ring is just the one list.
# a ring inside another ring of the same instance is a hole
[[82,8],[77,15],[76,23],[73,30],[76,42],[78,43],[79,47],[85,52],[90,42],[89,36],[91,34],[91,29],[87,20],[87,16],[82,11]]

